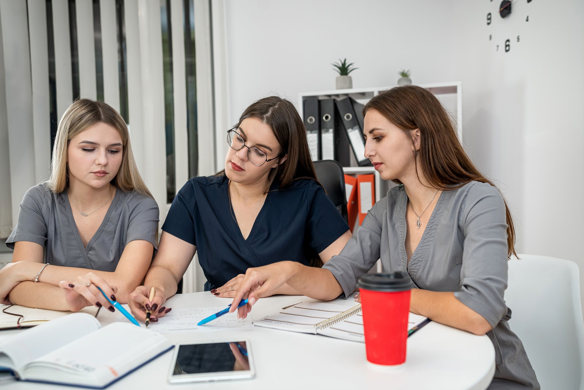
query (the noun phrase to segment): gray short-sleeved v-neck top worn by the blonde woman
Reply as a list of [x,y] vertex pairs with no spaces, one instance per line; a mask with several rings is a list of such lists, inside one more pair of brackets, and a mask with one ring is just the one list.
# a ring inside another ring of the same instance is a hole
[[53,193],[41,183],[26,191],[18,223],[6,246],[14,249],[17,241],[36,242],[44,247],[46,263],[111,272],[130,241],[148,241],[156,252],[157,229],[158,205],[154,199],[116,189],[102,224],[84,247],[67,191]]

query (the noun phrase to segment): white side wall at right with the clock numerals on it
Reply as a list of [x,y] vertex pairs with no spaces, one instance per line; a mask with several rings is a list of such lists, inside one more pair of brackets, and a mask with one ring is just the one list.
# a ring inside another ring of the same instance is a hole
[[498,4],[453,4],[464,141],[506,193],[517,251],[576,262],[584,297],[584,2],[518,1],[506,19]]

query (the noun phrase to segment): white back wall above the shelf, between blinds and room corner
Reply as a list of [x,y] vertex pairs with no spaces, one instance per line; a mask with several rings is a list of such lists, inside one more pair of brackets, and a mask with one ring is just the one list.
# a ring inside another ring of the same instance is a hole
[[453,80],[450,0],[230,0],[225,14],[230,125],[260,97],[335,89],[339,58],[359,68],[354,88],[394,84],[401,68]]

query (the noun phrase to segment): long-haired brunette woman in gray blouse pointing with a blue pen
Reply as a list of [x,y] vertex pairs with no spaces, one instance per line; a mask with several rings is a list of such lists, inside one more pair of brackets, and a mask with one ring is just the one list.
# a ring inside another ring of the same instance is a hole
[[[338,256],[322,269],[280,262],[251,268],[231,307],[246,316],[260,297],[287,283],[320,300],[347,297],[381,259],[385,272],[406,271],[418,287],[410,310],[433,321],[489,336],[495,378],[489,389],[539,389],[503,294],[515,230],[505,199],[474,166],[432,93],[392,88],[363,108],[365,156],[388,191]],[[234,310],[234,309],[232,309]]]

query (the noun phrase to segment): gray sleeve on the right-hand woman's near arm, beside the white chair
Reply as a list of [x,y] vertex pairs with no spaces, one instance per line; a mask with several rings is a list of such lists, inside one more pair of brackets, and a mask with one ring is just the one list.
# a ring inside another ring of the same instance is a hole
[[454,296],[493,328],[507,313],[507,223],[505,202],[488,183],[476,183],[463,203],[464,231],[460,291]]

